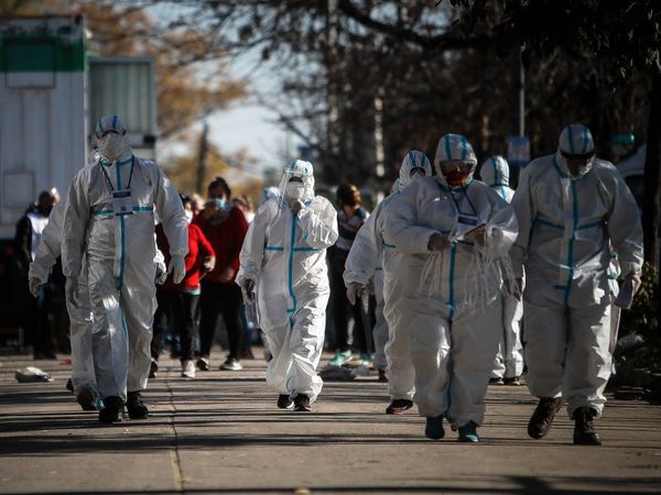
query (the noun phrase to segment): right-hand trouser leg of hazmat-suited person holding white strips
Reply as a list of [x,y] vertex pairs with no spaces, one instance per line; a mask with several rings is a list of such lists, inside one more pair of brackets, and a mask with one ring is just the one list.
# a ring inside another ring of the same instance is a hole
[[459,314],[452,322],[447,418],[453,429],[470,421],[478,426],[484,422],[485,395],[501,337],[500,326],[494,321],[501,315],[502,299],[498,297],[475,312]]

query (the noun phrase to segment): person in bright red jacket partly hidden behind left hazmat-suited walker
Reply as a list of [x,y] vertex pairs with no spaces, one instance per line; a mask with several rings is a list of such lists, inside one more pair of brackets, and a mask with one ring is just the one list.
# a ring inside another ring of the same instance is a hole
[[[184,204],[184,209],[187,209],[191,199],[183,195],[180,195],[180,197]],[[156,244],[165,257],[165,263],[169,263],[170,245],[161,224],[156,226]],[[188,224],[188,254],[186,254],[185,263],[186,275],[184,279],[180,284],[174,284],[172,275],[170,275],[156,292],[159,308],[154,316],[152,338],[152,372],[154,375],[158,370],[158,364],[155,369],[154,364],[161,352],[163,334],[171,319],[174,318],[180,337],[182,376],[186,378],[195,377],[193,340],[195,338],[195,315],[199,302],[201,279],[214,270],[216,253],[202,229],[194,223]]]

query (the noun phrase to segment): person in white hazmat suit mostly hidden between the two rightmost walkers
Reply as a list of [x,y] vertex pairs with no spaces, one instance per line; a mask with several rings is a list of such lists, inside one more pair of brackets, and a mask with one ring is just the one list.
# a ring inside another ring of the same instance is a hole
[[[512,200],[514,191],[509,187],[509,165],[502,156],[487,160],[479,169],[479,176],[507,202]],[[523,373],[522,318],[523,302],[506,294],[502,298],[502,336],[489,383],[519,385],[519,377]]]

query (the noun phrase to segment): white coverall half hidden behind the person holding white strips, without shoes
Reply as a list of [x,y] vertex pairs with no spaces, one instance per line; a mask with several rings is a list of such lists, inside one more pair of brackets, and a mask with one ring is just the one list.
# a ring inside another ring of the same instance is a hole
[[[404,341],[408,340],[407,336],[395,337],[393,327],[389,328],[388,321],[383,314],[384,299],[383,299],[383,257],[384,257],[384,242],[383,242],[383,212],[388,208],[388,205],[400,191],[404,190],[413,180],[420,177],[418,174],[411,176],[413,168],[421,168],[424,170],[424,175],[432,175],[432,165],[430,160],[424,153],[419,151],[410,151],[400,166],[399,179],[397,180],[393,191],[383,199],[375,210],[371,212],[365,224],[360,228],[349,251],[345,264],[344,279],[348,286],[350,283],[357,283],[367,287],[369,282],[372,280],[375,288],[375,297],[377,299],[377,321],[373,332],[375,339],[375,366],[379,370],[389,369],[389,388],[404,388],[405,392],[397,396],[392,396],[393,399],[408,398],[413,396],[413,370],[411,364],[411,358],[409,354],[410,344],[407,345]],[[397,256],[394,250],[388,250],[388,256]],[[401,256],[401,254],[399,254]],[[401,299],[401,297],[400,297]],[[392,301],[391,301],[392,304]],[[397,339],[397,342],[394,342]],[[403,349],[398,352],[398,345],[402,342]],[[393,358],[399,359],[401,362],[394,363],[392,370],[390,363],[387,360],[386,346],[394,344]],[[407,385],[397,386],[400,383],[400,377],[394,376],[397,371],[400,369],[410,370],[411,373],[407,373],[403,377],[410,377],[407,381]],[[394,381],[394,384],[392,384]]]

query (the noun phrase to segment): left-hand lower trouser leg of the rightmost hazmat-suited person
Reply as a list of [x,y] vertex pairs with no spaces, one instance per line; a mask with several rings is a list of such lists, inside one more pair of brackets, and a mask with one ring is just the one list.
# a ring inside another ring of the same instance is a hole
[[528,389],[535,397],[559,397],[566,349],[564,305],[549,300],[542,306],[525,300],[523,321]]

